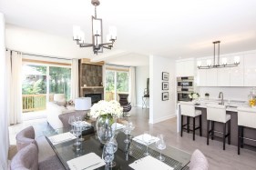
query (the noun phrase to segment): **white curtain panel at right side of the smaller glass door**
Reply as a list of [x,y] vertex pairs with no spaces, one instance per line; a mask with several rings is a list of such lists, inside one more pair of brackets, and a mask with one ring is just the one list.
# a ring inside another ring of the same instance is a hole
[[136,89],[135,89],[135,67],[129,67],[128,81],[128,101],[131,106],[136,105]]

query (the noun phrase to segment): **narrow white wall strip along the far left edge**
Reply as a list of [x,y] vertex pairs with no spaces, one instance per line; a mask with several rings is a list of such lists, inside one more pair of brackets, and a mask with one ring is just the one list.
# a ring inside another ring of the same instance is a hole
[[5,78],[6,66],[5,66],[5,17],[0,13],[0,77],[2,82],[0,83],[0,169],[8,169],[8,148],[9,148],[9,136],[8,136],[8,115],[7,115],[7,92]]

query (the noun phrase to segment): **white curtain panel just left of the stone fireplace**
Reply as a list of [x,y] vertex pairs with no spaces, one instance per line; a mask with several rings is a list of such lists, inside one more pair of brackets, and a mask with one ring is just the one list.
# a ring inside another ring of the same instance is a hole
[[78,59],[72,59],[71,66],[71,99],[75,100],[79,96]]

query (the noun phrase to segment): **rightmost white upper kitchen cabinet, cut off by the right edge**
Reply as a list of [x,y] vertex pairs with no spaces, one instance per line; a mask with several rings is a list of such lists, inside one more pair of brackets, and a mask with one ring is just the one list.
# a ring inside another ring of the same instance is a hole
[[256,54],[246,54],[244,62],[244,86],[256,86]]

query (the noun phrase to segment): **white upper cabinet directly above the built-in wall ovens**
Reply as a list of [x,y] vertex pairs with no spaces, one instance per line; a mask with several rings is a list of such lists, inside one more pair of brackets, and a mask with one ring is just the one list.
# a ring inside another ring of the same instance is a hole
[[194,59],[179,60],[176,62],[176,76],[194,76],[195,62]]

